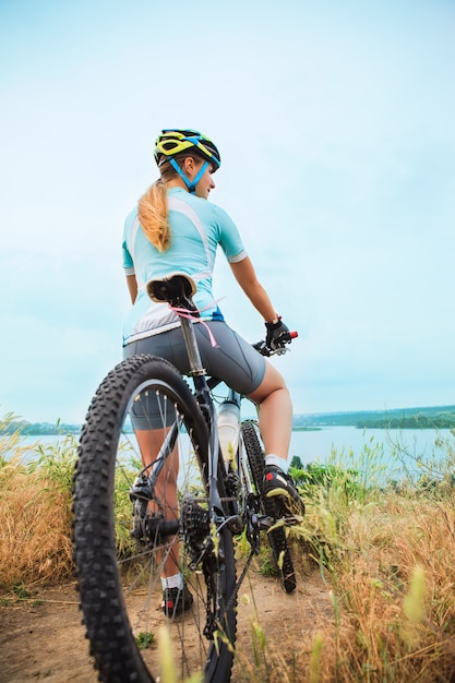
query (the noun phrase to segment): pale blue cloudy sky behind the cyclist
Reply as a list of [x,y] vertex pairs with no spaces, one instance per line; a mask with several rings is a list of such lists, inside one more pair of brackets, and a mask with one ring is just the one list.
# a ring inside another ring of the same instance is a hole
[[[220,151],[295,412],[455,404],[454,29],[453,0],[1,0],[0,415],[81,422],[121,360],[171,127]],[[264,336],[223,254],[215,296]]]

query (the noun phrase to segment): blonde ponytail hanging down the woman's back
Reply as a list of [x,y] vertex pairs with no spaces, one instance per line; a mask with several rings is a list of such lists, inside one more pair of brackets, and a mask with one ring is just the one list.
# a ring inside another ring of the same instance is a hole
[[159,252],[170,247],[166,184],[159,179],[140,199],[139,221],[144,235]]

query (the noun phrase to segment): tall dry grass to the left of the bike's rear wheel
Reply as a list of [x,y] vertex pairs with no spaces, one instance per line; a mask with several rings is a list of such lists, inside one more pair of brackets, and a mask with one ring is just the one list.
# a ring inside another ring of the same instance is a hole
[[[4,422],[11,422],[7,416]],[[2,424],[0,423],[0,428]],[[25,456],[34,451],[29,460]],[[71,489],[76,445],[25,448],[20,432],[0,435],[0,587],[50,583],[72,572]]]

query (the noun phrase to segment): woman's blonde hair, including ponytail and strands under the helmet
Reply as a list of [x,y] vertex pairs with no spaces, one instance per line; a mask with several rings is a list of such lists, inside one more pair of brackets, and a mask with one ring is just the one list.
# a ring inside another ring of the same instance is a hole
[[[185,158],[196,155],[190,155],[188,152],[177,154],[173,158],[181,167]],[[159,167],[161,177],[148,188],[148,190],[139,200],[137,216],[139,221],[144,230],[144,235],[159,252],[166,251],[170,247],[171,233],[169,226],[169,215],[166,195],[166,182],[175,178],[178,173],[168,160]]]

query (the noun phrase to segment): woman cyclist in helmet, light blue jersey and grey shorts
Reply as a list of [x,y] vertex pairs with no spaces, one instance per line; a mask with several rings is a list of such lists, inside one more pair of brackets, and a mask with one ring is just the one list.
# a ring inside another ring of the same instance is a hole
[[[124,357],[153,354],[169,360],[180,372],[189,372],[179,319],[167,304],[149,299],[146,284],[173,272],[190,275],[196,283],[193,300],[204,320],[204,324],[195,325],[202,362],[209,375],[259,404],[265,492],[286,512],[299,499],[285,472],[292,424],[289,392],[278,371],[226,324],[214,301],[212,274],[218,244],[234,277],[264,320],[267,346],[279,345],[288,327],[258,280],[236,225],[225,211],[206,201],[215,188],[213,175],[220,166],[215,144],[193,130],[167,129],[156,140],[154,156],[160,177],[124,224],[123,266],[133,302],[124,325]],[[149,415],[132,415],[132,421],[146,467],[157,455],[156,444],[161,443],[158,420],[154,422],[151,407]],[[178,455],[173,459],[177,469]],[[167,489],[166,496],[168,501],[173,498],[177,505],[176,479],[173,474],[173,492]],[[168,615],[181,613],[192,597],[172,556],[166,563],[166,574],[161,577],[163,609]]]

